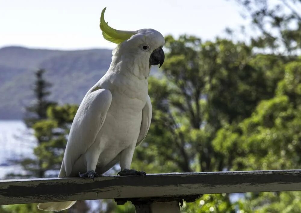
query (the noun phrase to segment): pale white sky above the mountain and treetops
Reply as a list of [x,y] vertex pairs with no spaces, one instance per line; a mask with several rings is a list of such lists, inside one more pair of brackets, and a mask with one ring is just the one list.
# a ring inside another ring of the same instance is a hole
[[234,0],[0,0],[0,48],[112,49],[99,29],[104,7],[115,29],[152,28],[164,36],[213,40],[246,24]]

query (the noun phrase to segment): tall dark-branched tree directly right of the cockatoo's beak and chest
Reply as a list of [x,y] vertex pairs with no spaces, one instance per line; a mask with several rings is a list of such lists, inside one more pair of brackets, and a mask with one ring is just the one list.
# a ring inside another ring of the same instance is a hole
[[176,171],[223,170],[227,163],[211,146],[216,132],[249,117],[259,101],[273,97],[276,86],[254,66],[257,57],[244,43],[168,36],[166,47],[166,79],[149,81],[154,116],[152,139],[144,144],[160,147],[153,153],[175,164]]

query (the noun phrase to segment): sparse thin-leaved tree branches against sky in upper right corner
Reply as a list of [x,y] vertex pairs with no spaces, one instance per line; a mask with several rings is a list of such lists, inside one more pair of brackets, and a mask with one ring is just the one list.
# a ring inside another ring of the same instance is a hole
[[301,2],[298,0],[236,0],[259,36],[251,42],[273,52],[298,54],[301,49]]

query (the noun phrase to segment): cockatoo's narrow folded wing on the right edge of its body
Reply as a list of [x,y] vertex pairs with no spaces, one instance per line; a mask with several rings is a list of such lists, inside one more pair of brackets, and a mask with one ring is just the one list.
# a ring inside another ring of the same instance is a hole
[[136,146],[138,146],[147,135],[147,132],[151,125],[151,114],[152,114],[151,98],[149,97],[149,95],[147,95],[147,101],[142,110],[142,121],[141,121],[140,133],[138,136]]

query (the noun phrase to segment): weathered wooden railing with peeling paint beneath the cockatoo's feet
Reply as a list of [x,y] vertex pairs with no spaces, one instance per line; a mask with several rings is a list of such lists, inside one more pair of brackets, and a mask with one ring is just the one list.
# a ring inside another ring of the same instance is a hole
[[91,199],[301,190],[301,170],[168,173],[0,181],[0,205]]

